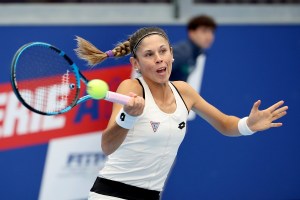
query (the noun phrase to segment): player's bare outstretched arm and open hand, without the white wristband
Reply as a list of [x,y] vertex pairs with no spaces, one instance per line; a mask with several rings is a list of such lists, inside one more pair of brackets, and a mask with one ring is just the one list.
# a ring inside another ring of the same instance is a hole
[[[241,136],[238,128],[240,118],[222,113],[213,105],[205,101],[190,85],[185,82],[174,82],[182,93],[190,110],[195,111],[220,133],[226,136]],[[279,127],[282,123],[273,121],[286,115],[287,106],[281,107],[283,101],[270,106],[265,110],[258,110],[261,101],[254,103],[246,123],[251,131],[262,131],[271,127]]]

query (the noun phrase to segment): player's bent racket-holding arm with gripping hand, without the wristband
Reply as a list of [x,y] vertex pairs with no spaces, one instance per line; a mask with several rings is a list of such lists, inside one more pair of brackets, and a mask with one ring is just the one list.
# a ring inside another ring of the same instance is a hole
[[[128,115],[139,116],[142,114],[145,103],[141,97],[143,95],[142,88],[137,80],[128,79],[123,81],[116,92],[124,95],[129,94],[131,96],[130,101],[123,107]],[[101,148],[105,155],[112,154],[116,151],[125,140],[129,131],[129,129],[120,127],[115,120],[122,106],[123,105],[117,103],[113,104],[112,114],[107,128],[102,133]]]

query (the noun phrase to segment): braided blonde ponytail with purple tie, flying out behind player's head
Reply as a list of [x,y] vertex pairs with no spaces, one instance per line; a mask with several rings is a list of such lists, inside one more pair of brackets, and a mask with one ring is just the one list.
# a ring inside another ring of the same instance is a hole
[[113,50],[106,52],[99,50],[92,43],[79,36],[76,36],[76,41],[77,48],[75,49],[75,52],[77,56],[87,61],[88,65],[91,67],[100,64],[109,57],[123,57],[131,53],[129,41],[119,43]]

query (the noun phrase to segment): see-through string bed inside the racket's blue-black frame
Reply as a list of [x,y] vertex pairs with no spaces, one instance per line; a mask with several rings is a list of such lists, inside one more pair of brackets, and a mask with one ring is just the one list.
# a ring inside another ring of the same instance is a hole
[[17,63],[17,85],[23,100],[44,113],[56,113],[77,100],[77,79],[69,63],[44,46],[26,49]]

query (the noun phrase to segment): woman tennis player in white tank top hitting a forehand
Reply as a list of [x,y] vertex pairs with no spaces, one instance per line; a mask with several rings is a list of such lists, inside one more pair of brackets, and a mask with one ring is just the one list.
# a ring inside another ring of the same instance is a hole
[[219,111],[186,82],[170,82],[172,47],[160,28],[141,28],[128,41],[104,53],[82,38],[77,40],[78,56],[91,65],[131,54],[130,62],[141,74],[123,81],[117,89],[130,95],[131,100],[124,106],[113,105],[101,143],[108,160],[91,188],[89,200],[160,199],[190,110],[226,136],[252,135],[282,126],[274,121],[286,115],[288,107],[283,101],[259,110],[259,100],[249,116],[240,119]]

